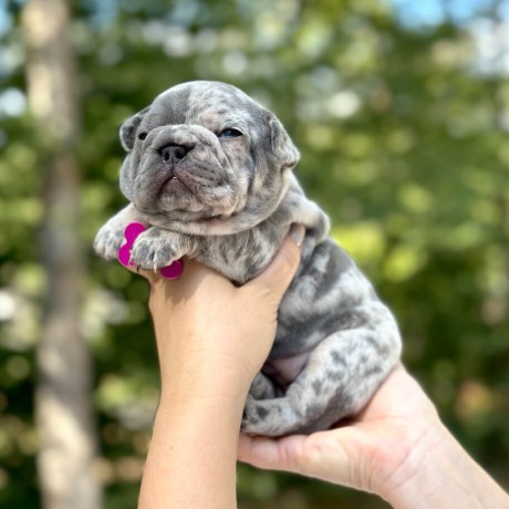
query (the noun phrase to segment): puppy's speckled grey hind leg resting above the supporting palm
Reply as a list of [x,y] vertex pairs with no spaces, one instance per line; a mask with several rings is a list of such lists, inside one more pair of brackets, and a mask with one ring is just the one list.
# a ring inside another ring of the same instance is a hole
[[376,332],[363,326],[328,336],[283,397],[260,401],[249,395],[243,430],[266,436],[308,434],[361,411],[399,357],[395,323],[388,319],[383,325]]

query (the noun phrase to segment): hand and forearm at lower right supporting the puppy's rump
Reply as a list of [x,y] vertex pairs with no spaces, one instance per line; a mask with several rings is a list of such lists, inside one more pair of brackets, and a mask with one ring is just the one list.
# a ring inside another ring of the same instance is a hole
[[351,423],[280,439],[242,435],[239,459],[373,492],[397,509],[509,508],[402,365]]

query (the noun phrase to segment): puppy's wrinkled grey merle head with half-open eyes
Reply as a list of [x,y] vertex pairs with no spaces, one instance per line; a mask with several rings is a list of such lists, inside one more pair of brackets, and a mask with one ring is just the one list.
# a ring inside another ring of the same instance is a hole
[[124,195],[144,214],[188,224],[260,222],[278,206],[299,160],[272,113],[218,82],[162,93],[124,123],[121,141]]

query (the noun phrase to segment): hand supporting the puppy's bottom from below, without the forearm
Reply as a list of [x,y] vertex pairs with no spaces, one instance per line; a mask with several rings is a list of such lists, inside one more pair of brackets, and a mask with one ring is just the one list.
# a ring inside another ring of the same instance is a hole
[[241,434],[238,458],[389,498],[415,474],[420,453],[439,445],[440,428],[434,405],[399,365],[355,420],[309,436]]

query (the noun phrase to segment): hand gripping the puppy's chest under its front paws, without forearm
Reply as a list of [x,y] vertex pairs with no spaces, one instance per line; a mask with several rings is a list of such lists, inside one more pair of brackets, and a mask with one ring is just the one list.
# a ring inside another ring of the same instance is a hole
[[240,288],[194,260],[185,260],[173,281],[141,271],[150,282],[163,393],[206,387],[245,398],[272,346],[278,307],[299,264],[303,227],[293,233],[297,242],[285,239],[269,267]]

